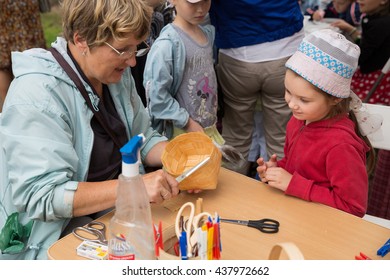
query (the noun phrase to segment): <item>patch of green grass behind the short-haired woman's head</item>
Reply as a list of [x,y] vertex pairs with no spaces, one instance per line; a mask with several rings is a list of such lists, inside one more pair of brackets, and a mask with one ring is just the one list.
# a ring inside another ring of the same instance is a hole
[[52,6],[49,13],[41,14],[41,21],[43,32],[45,34],[46,46],[50,47],[51,43],[54,42],[62,32],[61,26],[61,12],[59,7]]

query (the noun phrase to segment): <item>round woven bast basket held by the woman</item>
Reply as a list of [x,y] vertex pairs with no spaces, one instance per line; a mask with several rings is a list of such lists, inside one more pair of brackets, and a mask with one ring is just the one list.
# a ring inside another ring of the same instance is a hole
[[200,163],[210,160],[180,182],[181,190],[211,190],[217,187],[222,154],[211,138],[202,132],[188,132],[172,139],[161,156],[164,169],[174,177]]

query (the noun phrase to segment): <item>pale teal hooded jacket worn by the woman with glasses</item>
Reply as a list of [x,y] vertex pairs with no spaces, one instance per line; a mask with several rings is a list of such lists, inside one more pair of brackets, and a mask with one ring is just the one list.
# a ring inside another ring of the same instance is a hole
[[[66,41],[52,44],[76,70]],[[5,259],[46,259],[72,218],[78,182],[86,181],[94,134],[92,111],[52,54],[31,49],[12,54],[15,79],[0,118],[3,159],[0,166],[0,229],[18,211],[22,224],[33,220],[26,251]],[[77,70],[76,70],[77,71]],[[84,83],[88,93],[93,94]],[[130,68],[109,85],[128,138],[143,133],[143,160],[158,142],[167,140],[151,128],[136,92]]]

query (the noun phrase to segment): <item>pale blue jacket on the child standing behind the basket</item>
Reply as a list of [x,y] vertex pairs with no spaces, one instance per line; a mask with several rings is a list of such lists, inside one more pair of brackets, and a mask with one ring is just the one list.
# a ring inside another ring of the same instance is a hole
[[[215,29],[212,25],[201,26],[210,44],[214,43]],[[160,133],[172,137],[173,126],[184,128],[189,114],[172,98],[183,80],[186,52],[180,35],[166,25],[153,43],[146,59],[144,87],[152,126]]]

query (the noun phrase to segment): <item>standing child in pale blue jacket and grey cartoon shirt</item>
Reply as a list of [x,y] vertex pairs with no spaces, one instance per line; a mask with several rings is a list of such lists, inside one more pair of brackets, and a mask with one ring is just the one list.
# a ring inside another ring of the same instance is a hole
[[176,10],[154,42],[146,61],[144,86],[152,126],[168,138],[204,131],[223,144],[217,128],[215,29],[201,25],[211,0],[171,0]]

